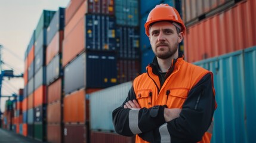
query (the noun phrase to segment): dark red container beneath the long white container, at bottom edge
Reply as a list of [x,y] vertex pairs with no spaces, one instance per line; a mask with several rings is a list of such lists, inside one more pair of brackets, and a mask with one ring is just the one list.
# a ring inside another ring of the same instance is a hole
[[91,142],[94,143],[134,143],[135,136],[122,136],[117,133],[91,132]]

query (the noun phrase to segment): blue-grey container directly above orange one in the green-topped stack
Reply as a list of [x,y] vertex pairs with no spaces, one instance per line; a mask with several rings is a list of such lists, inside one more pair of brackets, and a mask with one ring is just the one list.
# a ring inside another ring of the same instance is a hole
[[41,67],[38,72],[35,74],[35,89],[37,89],[41,85],[46,84],[46,69],[45,67]]

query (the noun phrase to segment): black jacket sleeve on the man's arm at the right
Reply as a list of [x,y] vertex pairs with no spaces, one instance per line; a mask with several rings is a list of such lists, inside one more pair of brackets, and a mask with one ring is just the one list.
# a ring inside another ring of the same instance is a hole
[[[167,123],[171,142],[198,142],[208,130],[215,110],[212,76],[206,74],[189,92],[180,117]],[[159,128],[139,136],[145,141],[161,142]]]

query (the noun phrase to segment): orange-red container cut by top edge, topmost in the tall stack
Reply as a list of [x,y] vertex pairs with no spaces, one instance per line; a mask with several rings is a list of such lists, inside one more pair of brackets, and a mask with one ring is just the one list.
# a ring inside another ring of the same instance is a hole
[[[75,17],[75,14],[77,13],[77,11],[79,11],[79,8],[84,7],[85,6],[85,0],[72,0],[69,1],[69,4],[67,4],[67,7],[65,9],[65,26],[69,23],[69,21]],[[85,14],[85,12],[84,12]]]

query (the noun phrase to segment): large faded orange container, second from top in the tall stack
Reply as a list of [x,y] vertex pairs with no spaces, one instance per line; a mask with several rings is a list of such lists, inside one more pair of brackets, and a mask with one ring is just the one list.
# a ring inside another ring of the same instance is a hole
[[[70,23],[72,24],[72,23]],[[67,28],[67,26],[66,26]],[[66,33],[65,28],[65,33]],[[72,30],[69,35],[64,36],[63,40],[63,63],[62,66],[66,66],[67,63],[73,60],[76,55],[80,54],[85,48],[85,20],[81,20],[75,27],[70,27]]]

